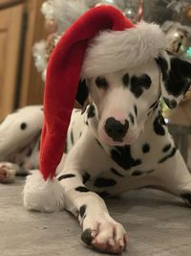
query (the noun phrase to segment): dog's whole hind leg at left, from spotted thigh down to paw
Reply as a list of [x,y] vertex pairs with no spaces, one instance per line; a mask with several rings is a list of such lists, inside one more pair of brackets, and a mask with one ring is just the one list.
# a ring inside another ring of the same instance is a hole
[[36,105],[18,109],[0,123],[1,183],[11,183],[15,175],[29,175],[28,169],[37,168],[38,163],[33,163],[37,157],[34,157],[34,153],[31,157],[29,152],[32,151],[32,141],[42,128],[42,122],[42,106]]

